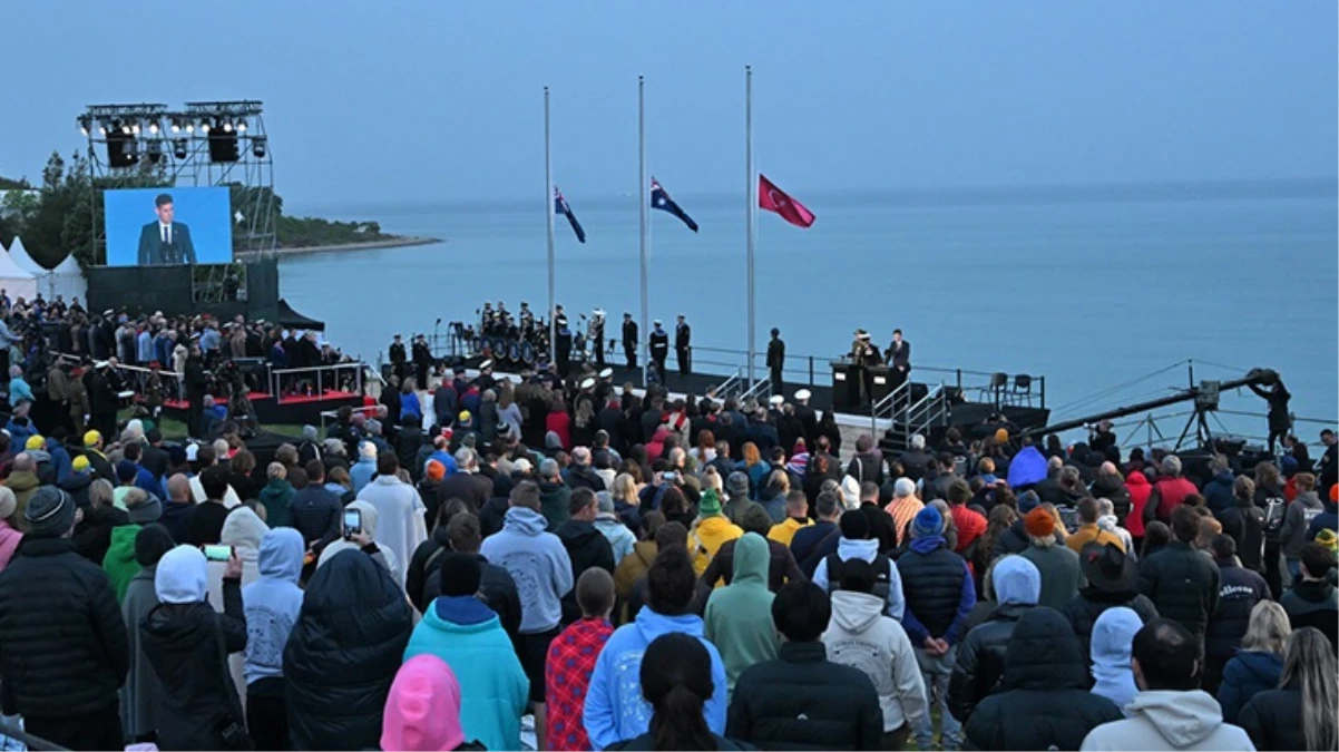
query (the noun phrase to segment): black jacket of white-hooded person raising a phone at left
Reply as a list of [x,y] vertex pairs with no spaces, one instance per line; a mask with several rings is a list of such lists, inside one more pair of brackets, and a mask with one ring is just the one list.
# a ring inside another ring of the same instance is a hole
[[228,745],[221,732],[236,717],[233,708],[240,713],[241,702],[218,654],[218,630],[224,633],[225,650],[246,649],[241,582],[224,581],[222,614],[205,601],[159,603],[138,628],[145,657],[162,682],[154,711],[158,747],[225,752]]

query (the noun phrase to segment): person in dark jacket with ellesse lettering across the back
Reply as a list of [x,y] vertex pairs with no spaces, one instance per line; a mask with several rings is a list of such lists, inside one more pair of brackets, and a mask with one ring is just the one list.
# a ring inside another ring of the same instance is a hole
[[1209,694],[1217,694],[1223,669],[1241,645],[1256,605],[1269,599],[1269,586],[1260,573],[1241,566],[1236,555],[1237,542],[1231,537],[1216,537],[1210,553],[1223,579],[1218,586],[1218,607],[1209,620],[1205,636],[1204,678],[1200,686]]

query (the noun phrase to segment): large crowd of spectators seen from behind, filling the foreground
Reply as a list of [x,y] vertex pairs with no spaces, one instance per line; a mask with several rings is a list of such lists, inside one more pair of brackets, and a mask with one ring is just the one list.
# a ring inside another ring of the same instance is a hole
[[1214,456],[1202,482],[1102,431],[844,454],[803,391],[486,367],[406,375],[371,415],[268,464],[232,423],[173,446],[11,421],[4,728],[80,752],[522,749],[530,724],[553,751],[1339,744],[1332,435],[1319,467]]

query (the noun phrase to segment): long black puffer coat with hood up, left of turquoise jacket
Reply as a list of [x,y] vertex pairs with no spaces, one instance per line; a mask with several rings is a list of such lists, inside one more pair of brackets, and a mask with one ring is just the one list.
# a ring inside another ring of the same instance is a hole
[[412,622],[386,567],[341,551],[316,569],[284,648],[295,752],[376,748]]

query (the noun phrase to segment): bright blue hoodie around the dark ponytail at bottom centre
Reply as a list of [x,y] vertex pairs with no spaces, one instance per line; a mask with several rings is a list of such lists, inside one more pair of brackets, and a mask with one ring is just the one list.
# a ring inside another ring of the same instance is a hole
[[651,705],[641,697],[641,656],[661,634],[679,632],[696,637],[711,654],[711,700],[703,708],[712,733],[726,733],[726,664],[716,646],[703,636],[702,618],[694,614],[665,617],[643,607],[632,624],[616,629],[595,662],[582,720],[595,749],[633,739],[651,728]]

